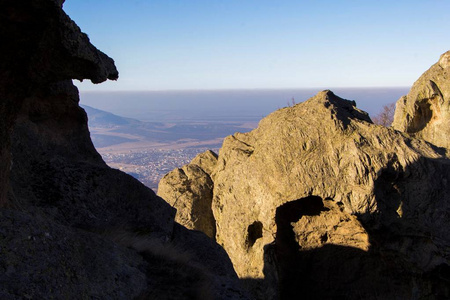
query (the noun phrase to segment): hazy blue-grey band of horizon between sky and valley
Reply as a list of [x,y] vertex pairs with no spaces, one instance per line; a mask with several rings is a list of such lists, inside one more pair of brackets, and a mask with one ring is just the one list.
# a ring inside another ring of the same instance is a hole
[[[226,89],[164,91],[80,91],[81,104],[141,121],[259,121],[271,112],[303,102],[321,88]],[[331,88],[337,96],[356,101],[371,116],[396,102],[407,87]]]

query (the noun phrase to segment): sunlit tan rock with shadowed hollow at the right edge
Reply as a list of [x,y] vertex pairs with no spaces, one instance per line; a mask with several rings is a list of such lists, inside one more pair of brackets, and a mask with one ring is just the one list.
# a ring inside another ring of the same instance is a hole
[[392,127],[450,148],[450,51],[397,101]]

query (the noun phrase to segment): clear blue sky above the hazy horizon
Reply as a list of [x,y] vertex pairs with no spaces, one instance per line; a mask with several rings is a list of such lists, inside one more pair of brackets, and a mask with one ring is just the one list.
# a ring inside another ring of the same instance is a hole
[[66,0],[117,82],[81,90],[410,86],[450,50],[450,1]]

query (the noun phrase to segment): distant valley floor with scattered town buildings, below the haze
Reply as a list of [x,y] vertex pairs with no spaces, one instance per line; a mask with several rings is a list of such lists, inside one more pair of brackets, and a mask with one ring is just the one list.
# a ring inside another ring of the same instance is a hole
[[257,122],[142,122],[83,108],[91,139],[105,162],[155,191],[169,171],[208,149],[217,152],[227,135],[257,126]]

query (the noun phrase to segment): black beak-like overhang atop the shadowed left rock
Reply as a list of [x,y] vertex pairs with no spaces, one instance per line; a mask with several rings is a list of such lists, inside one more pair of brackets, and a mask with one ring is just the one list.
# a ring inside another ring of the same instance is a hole
[[117,79],[112,59],[98,51],[62,11],[64,1],[0,3],[0,205],[8,203],[10,133],[25,98],[63,80]]

